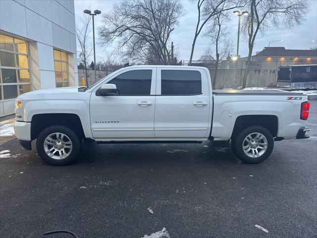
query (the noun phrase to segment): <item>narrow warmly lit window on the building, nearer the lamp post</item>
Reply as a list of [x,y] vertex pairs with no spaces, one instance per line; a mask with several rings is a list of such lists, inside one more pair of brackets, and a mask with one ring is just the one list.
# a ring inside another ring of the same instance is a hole
[[68,58],[67,53],[54,49],[56,88],[68,87]]

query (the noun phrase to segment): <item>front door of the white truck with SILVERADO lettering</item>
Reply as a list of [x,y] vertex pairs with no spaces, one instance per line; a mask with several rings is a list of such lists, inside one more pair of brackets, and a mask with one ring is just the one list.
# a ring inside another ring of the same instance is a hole
[[105,83],[115,84],[117,94],[92,93],[90,117],[95,139],[154,138],[156,68],[126,68]]

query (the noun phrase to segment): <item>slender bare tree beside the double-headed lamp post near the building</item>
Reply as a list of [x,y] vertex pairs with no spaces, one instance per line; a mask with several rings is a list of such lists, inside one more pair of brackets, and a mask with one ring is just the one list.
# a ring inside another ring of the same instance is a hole
[[91,41],[89,41],[89,35],[91,33],[91,17],[85,15],[80,18],[80,25],[76,24],[76,38],[79,44],[79,51],[77,52],[78,61],[83,63],[85,69],[86,86],[88,86],[88,65],[89,57],[91,56],[93,47]]

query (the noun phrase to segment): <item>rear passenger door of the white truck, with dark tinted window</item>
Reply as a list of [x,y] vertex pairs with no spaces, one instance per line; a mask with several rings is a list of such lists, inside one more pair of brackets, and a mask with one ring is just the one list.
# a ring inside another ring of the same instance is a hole
[[156,138],[207,136],[211,92],[205,70],[159,67],[156,94]]

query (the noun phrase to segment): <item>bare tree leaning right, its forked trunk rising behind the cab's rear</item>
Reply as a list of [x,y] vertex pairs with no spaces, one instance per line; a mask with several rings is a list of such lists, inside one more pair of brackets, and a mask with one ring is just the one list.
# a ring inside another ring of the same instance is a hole
[[192,44],[192,50],[190,54],[189,63],[192,63],[194,49],[197,41],[197,37],[202,32],[204,26],[217,14],[232,10],[234,8],[244,6],[245,0],[198,0],[198,20],[196,24],[195,36]]

